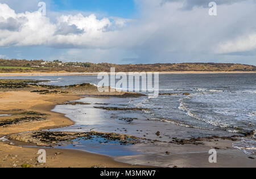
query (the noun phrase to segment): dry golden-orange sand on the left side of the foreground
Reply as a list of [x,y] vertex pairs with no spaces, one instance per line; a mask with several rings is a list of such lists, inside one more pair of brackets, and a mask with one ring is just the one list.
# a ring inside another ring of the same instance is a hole
[[[32,110],[40,113],[50,115],[50,119],[46,121],[25,122],[10,127],[1,127],[0,137],[11,134],[23,133],[27,131],[43,130],[43,129],[56,129],[74,124],[72,120],[65,117],[65,114],[52,112],[51,110],[59,103],[67,101],[79,100],[82,96],[79,95],[39,95],[28,91],[18,92],[1,92],[1,113],[11,113],[13,109]],[[8,102],[9,101],[9,102]],[[22,103],[22,104],[20,104]],[[14,107],[15,106],[15,107]],[[14,114],[15,116],[16,114]],[[29,143],[28,143],[29,145]],[[86,151],[44,148],[47,151],[47,163],[44,165],[36,165],[36,157],[40,147],[20,147],[9,144],[9,142],[0,142],[0,168],[1,167],[20,167],[24,163],[28,163],[31,167],[126,167],[137,168],[143,167],[142,165],[131,165],[115,161],[113,157],[104,156],[100,154],[93,154]],[[56,155],[56,154],[61,155]],[[18,157],[14,157],[18,156]],[[22,159],[20,159],[22,157]],[[19,163],[9,163],[9,160]],[[18,160],[19,159],[19,160]],[[22,162],[20,161],[22,160]],[[61,163],[60,163],[61,161]],[[21,163],[20,163],[21,162]],[[145,166],[144,166],[145,167]]]

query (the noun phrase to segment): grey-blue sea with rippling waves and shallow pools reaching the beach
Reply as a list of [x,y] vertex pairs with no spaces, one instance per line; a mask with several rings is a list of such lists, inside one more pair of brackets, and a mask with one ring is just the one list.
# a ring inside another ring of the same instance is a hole
[[[1,79],[49,80],[44,84],[56,86],[81,83],[97,85],[100,81],[97,75],[4,76]],[[143,93],[148,95],[147,92]],[[57,105],[53,109],[75,122],[73,126],[54,130],[121,133],[165,142],[172,138],[190,139],[213,135],[229,137],[256,130],[255,73],[160,74],[159,93],[176,95],[159,95],[156,98],[82,96],[78,101],[90,105]],[[94,107],[143,110],[121,111]],[[158,131],[160,139],[156,135]],[[156,144],[145,144],[147,147],[143,148],[142,144],[135,147],[119,146],[98,140],[74,141],[72,145],[60,148],[68,147],[109,156],[158,154],[160,151],[160,146]],[[247,155],[256,156],[255,137],[243,138],[241,142],[234,143],[233,147]]]

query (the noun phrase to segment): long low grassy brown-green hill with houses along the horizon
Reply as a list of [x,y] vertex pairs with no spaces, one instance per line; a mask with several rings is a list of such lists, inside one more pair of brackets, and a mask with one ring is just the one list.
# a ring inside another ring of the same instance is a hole
[[61,61],[45,62],[43,60],[27,61],[26,59],[0,59],[0,73],[15,72],[102,72],[110,71],[110,67],[115,67],[115,71],[256,71],[256,66],[242,65],[234,63],[156,63],[156,64],[127,64],[117,65],[111,63],[81,63]]

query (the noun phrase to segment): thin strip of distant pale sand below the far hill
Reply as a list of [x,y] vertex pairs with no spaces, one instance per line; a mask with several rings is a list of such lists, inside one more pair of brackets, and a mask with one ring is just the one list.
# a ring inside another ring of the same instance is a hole
[[[100,72],[99,72],[100,73]],[[148,71],[146,73],[159,73],[159,74],[251,74],[256,71]],[[110,73],[108,73],[110,74]],[[68,76],[68,75],[98,75],[98,73],[0,73],[1,76]]]

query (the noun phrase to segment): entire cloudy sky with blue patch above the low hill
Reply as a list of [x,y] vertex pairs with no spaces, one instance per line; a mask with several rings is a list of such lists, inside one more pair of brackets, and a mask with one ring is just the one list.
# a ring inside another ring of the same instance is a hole
[[256,65],[256,0],[211,1],[0,0],[0,58]]

